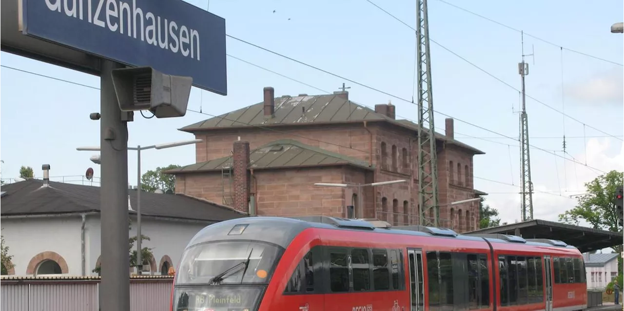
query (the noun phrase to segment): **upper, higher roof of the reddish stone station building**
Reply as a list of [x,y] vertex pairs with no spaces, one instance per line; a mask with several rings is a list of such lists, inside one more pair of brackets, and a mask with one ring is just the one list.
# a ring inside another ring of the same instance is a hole
[[[275,117],[265,118],[264,103],[259,102],[255,105],[182,127],[180,131],[195,132],[232,127],[328,124],[358,121],[385,121],[412,131],[418,131],[417,124],[412,121],[392,119],[383,114],[378,114],[373,109],[361,106],[335,94],[277,97],[275,99]],[[437,139],[445,141],[447,144],[468,149],[474,152],[474,154],[485,154],[485,152],[479,149],[475,149],[455,139],[450,139],[437,132],[435,135]]]

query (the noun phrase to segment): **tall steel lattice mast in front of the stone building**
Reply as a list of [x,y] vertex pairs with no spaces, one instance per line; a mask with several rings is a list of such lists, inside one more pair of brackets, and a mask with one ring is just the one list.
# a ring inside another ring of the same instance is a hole
[[[437,197],[437,150],[434,136],[433,94],[431,89],[431,53],[427,0],[417,0],[416,53],[418,72],[418,204],[420,224],[439,227]],[[433,214],[433,217],[430,215]],[[433,219],[432,219],[433,218]]]

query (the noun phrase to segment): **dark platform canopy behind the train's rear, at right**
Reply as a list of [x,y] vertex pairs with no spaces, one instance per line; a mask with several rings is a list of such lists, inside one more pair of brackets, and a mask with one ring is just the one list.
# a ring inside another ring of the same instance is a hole
[[520,235],[525,239],[561,240],[568,245],[574,245],[582,253],[622,245],[624,238],[618,232],[540,219],[479,229],[467,232],[467,234],[509,234]]

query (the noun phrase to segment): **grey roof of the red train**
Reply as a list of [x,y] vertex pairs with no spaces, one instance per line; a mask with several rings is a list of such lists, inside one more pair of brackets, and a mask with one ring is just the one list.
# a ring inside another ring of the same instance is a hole
[[[243,232],[232,234],[235,227],[242,228]],[[378,219],[345,219],[329,216],[301,216],[301,217],[245,217],[226,220],[217,224],[208,225],[200,230],[188,243],[187,247],[205,242],[218,240],[260,240],[288,247],[290,242],[305,229],[334,229],[365,232],[379,232],[386,234],[415,235],[422,237],[439,237],[442,239],[459,239],[483,241],[492,243],[524,244],[544,247],[560,247],[563,249],[577,249],[560,240],[524,239],[517,235],[506,234],[458,234],[452,229],[426,227],[422,225],[407,225],[392,227],[388,222]]]

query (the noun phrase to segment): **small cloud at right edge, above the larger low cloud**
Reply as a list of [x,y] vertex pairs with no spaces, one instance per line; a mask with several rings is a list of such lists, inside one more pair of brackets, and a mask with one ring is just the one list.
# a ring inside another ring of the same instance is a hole
[[565,86],[566,97],[585,104],[613,104],[624,101],[624,75],[620,71],[603,72],[587,81]]

